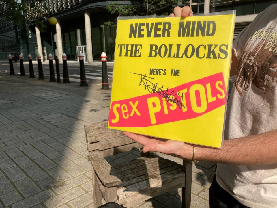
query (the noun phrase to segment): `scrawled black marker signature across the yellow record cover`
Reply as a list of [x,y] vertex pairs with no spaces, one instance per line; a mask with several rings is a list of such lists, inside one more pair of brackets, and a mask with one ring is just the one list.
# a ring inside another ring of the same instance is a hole
[[183,93],[180,95],[180,98],[177,99],[177,97],[179,96],[179,92],[177,94],[174,94],[174,90],[172,90],[169,93],[169,89],[167,88],[166,90],[163,90],[164,86],[162,85],[161,87],[158,87],[158,83],[152,83],[150,81],[150,79],[154,79],[152,77],[147,77],[146,74],[142,75],[142,74],[137,74],[137,73],[133,73],[130,72],[131,74],[135,74],[135,75],[140,75],[140,82],[139,85],[143,85],[145,90],[148,90],[149,93],[154,93],[156,92],[158,95],[162,96],[163,98],[165,98],[167,100],[167,102],[173,102],[176,105],[178,105],[178,107],[181,109],[181,107],[185,107],[183,104]]

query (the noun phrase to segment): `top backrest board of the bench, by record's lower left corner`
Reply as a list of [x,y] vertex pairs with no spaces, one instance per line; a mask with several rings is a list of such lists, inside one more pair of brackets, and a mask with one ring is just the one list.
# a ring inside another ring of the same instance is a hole
[[123,136],[122,131],[108,129],[108,121],[85,125],[87,143]]

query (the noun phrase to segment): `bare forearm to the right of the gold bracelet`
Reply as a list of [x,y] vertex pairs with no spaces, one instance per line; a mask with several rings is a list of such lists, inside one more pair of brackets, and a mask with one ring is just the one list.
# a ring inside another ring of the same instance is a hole
[[275,164],[277,130],[224,140],[220,149],[196,146],[195,159],[243,165]]

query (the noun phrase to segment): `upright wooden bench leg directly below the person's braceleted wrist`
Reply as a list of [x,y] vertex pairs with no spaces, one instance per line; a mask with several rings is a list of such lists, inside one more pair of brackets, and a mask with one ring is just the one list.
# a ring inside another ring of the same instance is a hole
[[190,208],[192,162],[183,160],[183,170],[186,174],[185,187],[182,188],[182,208]]

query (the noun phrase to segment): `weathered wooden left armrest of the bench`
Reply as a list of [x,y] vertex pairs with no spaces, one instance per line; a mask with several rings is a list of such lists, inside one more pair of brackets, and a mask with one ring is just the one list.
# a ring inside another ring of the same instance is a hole
[[122,177],[108,164],[99,151],[89,152],[89,159],[99,180],[105,187],[113,187],[123,183]]

